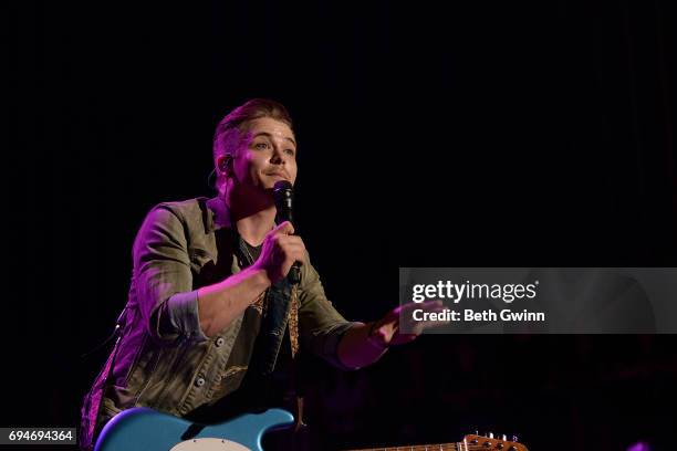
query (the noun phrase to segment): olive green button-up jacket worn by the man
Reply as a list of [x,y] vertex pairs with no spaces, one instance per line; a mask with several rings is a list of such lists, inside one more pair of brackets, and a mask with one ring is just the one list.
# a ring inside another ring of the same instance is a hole
[[[208,338],[197,310],[198,287],[222,281],[247,264],[238,256],[237,240],[241,242],[219,198],[160,203],[148,213],[134,243],[121,339],[82,408],[83,449],[123,409],[144,406],[183,417],[240,386],[258,325],[254,331],[250,323],[242,327],[242,313]],[[336,347],[353,323],[327,301],[310,263],[301,266],[298,296],[302,349],[343,368]],[[240,334],[238,347],[243,348],[233,353]]]

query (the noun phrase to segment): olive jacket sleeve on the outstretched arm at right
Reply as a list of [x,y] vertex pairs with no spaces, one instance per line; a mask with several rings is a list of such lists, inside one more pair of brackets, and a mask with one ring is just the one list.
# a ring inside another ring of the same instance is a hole
[[309,260],[301,266],[299,285],[299,335],[302,344],[337,368],[354,369],[338,360],[337,348],[343,334],[355,324],[358,323],[346,321],[326,298],[320,275]]

